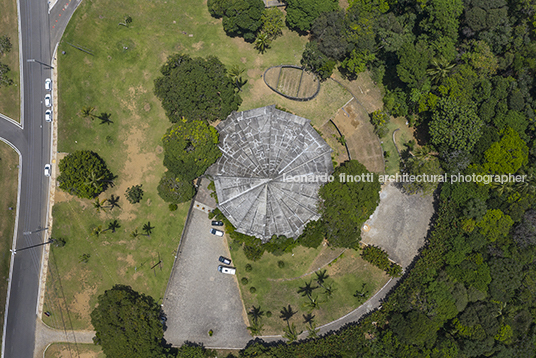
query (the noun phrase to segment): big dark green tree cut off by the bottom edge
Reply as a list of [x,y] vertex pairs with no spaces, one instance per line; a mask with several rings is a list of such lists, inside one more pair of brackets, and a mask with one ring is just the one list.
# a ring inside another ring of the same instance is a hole
[[160,305],[130,286],[115,285],[97,299],[91,312],[95,343],[108,357],[159,357],[164,336]]

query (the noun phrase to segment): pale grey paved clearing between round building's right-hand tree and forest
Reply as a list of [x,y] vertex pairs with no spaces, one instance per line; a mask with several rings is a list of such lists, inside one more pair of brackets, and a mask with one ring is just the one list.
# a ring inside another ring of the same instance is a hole
[[361,242],[383,248],[389,258],[407,267],[424,245],[434,213],[433,196],[406,195],[394,183],[380,192],[380,204],[361,230]]

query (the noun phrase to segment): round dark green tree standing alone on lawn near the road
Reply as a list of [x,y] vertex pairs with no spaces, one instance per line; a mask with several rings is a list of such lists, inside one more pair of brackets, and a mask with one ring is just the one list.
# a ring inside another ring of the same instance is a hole
[[[60,161],[58,182],[60,189],[79,198],[91,199],[108,188],[114,175],[108,170],[104,160],[90,150],[78,150]],[[95,182],[87,179],[95,177]]]

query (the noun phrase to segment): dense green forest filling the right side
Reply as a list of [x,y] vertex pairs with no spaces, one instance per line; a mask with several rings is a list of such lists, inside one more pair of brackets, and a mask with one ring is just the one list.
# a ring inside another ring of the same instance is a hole
[[[448,174],[428,242],[382,309],[337,334],[241,357],[534,357],[536,4],[528,0],[351,1],[311,25],[303,63],[326,78],[368,68],[385,109]],[[421,165],[415,165],[415,161]]]

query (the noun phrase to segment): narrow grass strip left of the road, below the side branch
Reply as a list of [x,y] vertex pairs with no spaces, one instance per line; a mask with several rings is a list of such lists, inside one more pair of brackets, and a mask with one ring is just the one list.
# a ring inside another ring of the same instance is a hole
[[[4,142],[0,142],[0,307],[6,306],[7,284],[11,245],[17,209],[19,156]],[[9,210],[12,208],[12,210]],[[4,322],[4,310],[0,310],[0,322]],[[0,328],[0,337],[2,335]],[[1,341],[1,338],[0,338]]]

